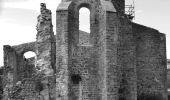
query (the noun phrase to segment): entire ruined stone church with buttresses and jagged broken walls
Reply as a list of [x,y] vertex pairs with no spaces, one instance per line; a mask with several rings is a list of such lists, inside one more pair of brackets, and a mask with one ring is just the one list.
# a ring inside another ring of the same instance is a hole
[[4,45],[2,100],[167,100],[166,69],[165,34],[132,22],[125,0],[62,0],[56,35],[42,3],[36,41]]

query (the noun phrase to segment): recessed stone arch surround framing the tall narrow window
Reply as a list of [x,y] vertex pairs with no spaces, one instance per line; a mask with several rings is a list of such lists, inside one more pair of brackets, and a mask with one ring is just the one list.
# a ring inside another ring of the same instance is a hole
[[82,8],[88,8],[90,11],[90,44],[95,45],[97,39],[96,35],[99,33],[99,12],[96,8],[96,3],[91,3],[91,1],[81,0],[79,2],[72,1],[68,6],[68,30],[69,30],[69,43],[72,45],[77,45],[79,43],[79,10]]

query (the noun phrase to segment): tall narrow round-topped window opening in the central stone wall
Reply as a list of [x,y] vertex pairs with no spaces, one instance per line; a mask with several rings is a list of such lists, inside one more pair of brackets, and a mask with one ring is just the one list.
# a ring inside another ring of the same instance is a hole
[[90,44],[90,10],[82,7],[79,10],[79,44]]

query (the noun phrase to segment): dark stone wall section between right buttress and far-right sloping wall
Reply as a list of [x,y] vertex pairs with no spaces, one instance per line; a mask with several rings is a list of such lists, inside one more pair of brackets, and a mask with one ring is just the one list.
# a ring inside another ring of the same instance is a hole
[[117,42],[117,66],[120,67],[119,99],[137,99],[137,73],[136,73],[136,41],[132,31],[132,23],[124,15],[118,15],[119,24],[115,33],[118,34]]

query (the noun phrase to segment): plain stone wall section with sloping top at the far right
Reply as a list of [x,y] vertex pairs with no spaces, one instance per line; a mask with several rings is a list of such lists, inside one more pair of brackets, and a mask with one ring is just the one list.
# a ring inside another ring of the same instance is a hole
[[155,29],[133,24],[136,34],[138,100],[167,100],[166,38]]

